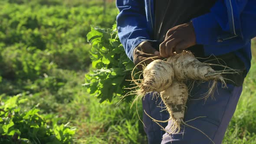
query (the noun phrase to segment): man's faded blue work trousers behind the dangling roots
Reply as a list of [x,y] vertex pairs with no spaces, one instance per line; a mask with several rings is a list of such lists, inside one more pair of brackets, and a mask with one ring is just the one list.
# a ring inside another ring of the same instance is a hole
[[[194,85],[190,90],[184,116],[184,121],[204,116],[204,118],[189,121],[187,124],[203,131],[215,144],[221,144],[242,92],[242,86],[228,85],[228,88],[221,88],[221,86],[220,83],[217,85],[217,90],[213,95],[215,99],[208,98],[205,101],[204,99],[193,99],[201,98],[209,90],[209,83]],[[167,111],[163,111],[164,104],[161,102],[161,98],[153,97],[152,93],[145,96],[142,105],[147,114],[156,120],[165,121],[169,118]],[[148,137],[148,144],[212,144],[205,135],[194,128],[182,125],[180,133],[170,135],[161,130],[158,124],[145,113],[143,122],[146,126],[144,130]],[[168,130],[171,122],[160,124]]]

